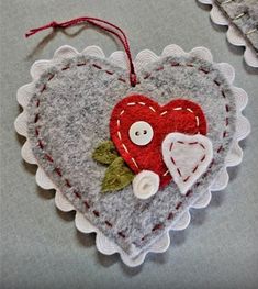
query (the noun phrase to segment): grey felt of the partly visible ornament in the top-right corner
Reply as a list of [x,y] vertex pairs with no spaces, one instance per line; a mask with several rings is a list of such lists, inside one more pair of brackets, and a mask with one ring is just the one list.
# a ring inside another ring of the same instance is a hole
[[224,2],[225,0],[216,0],[218,9],[226,14],[254,49],[258,52],[258,1],[234,0]]

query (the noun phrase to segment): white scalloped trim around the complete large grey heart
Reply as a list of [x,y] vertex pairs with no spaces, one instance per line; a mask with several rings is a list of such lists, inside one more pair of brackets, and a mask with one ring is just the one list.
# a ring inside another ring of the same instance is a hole
[[[31,75],[32,75],[33,81],[38,79],[38,77],[42,75],[42,73],[47,67],[52,66],[56,59],[72,57],[77,54],[78,54],[78,52],[75,48],[66,45],[66,46],[61,46],[59,49],[57,49],[55,52],[52,60],[35,62],[31,68]],[[98,56],[101,58],[105,57],[102,49],[98,46],[89,46],[82,52],[82,54],[93,55],[93,56]],[[164,49],[162,55],[160,57],[168,56],[168,55],[180,56],[180,55],[186,55],[186,54],[188,55],[188,53],[183,52],[179,46],[172,44],[172,45],[167,46]],[[211,62],[211,63],[213,62],[211,52],[204,47],[195,47],[189,54],[194,55],[199,58],[203,58],[203,59]],[[144,66],[146,66],[147,64],[149,64],[152,62],[159,59],[160,57],[157,56],[156,54],[154,54],[153,52],[148,51],[148,49],[142,51],[135,58],[136,70],[144,68]],[[117,66],[126,67],[126,57],[125,57],[125,54],[123,52],[114,52],[108,58],[108,60],[114,63]],[[233,84],[233,80],[235,77],[234,68],[226,63],[216,64],[216,66],[224,74],[224,76],[228,79],[228,81],[231,84]],[[27,85],[21,87],[18,90],[18,102],[23,108],[23,112],[16,118],[14,125],[15,125],[16,132],[19,134],[25,136],[25,137],[27,136],[26,135],[27,134],[27,130],[26,130],[27,111],[26,111],[26,107],[27,107],[27,103],[29,103],[31,97],[33,96],[33,87],[34,87],[34,82],[31,82],[31,84],[27,84]],[[237,131],[236,131],[235,140],[233,143],[232,149],[228,153],[228,156],[226,157],[225,168],[222,169],[221,174],[217,176],[217,178],[212,184],[210,190],[204,192],[200,197],[200,199],[198,199],[194,202],[194,204],[191,205],[191,208],[194,208],[194,209],[205,208],[211,201],[211,191],[223,190],[227,186],[228,174],[227,174],[226,167],[236,166],[242,162],[243,152],[238,145],[238,142],[240,140],[245,138],[248,135],[248,133],[250,132],[250,125],[249,125],[248,120],[242,115],[242,110],[246,107],[248,97],[247,97],[247,93],[243,89],[237,88],[237,87],[232,87],[232,88],[235,92],[235,98],[236,98],[236,102],[237,102]],[[22,157],[24,158],[25,162],[27,162],[30,164],[35,164],[38,166],[35,157],[32,153],[29,141],[26,141],[22,147]],[[69,212],[72,210],[76,211],[74,205],[61,194],[61,192],[55,187],[55,185],[46,176],[46,174],[44,173],[44,170],[40,166],[37,168],[35,178],[36,178],[37,185],[40,187],[42,187],[43,189],[55,189],[56,190],[55,203],[59,210],[61,210],[64,212]],[[136,257],[132,257],[132,256],[127,255],[115,243],[113,243],[111,240],[109,240],[106,236],[104,236],[96,226],[93,226],[91,223],[89,223],[87,221],[87,219],[78,211],[76,211],[75,223],[76,223],[76,227],[80,232],[83,232],[83,233],[94,232],[94,233],[97,233],[96,245],[97,245],[97,248],[99,252],[101,252],[105,255],[112,255],[114,253],[119,253],[122,260],[127,266],[134,267],[134,266],[141,265],[144,262],[145,256],[148,253],[150,253],[150,252],[152,253],[165,252],[169,247],[169,244],[170,244],[169,231],[170,230],[175,230],[175,231],[184,230],[189,225],[190,219],[191,219],[191,216],[190,216],[190,212],[188,210],[184,214],[181,215],[181,218],[178,220],[178,222],[173,226],[171,226],[158,241],[156,241],[156,243],[154,243],[145,252],[142,252]]]

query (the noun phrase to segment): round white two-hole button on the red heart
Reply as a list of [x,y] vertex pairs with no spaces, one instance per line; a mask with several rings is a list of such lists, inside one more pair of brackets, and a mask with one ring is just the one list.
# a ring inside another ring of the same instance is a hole
[[152,142],[154,137],[154,130],[149,123],[145,121],[137,121],[130,127],[130,138],[136,145],[146,145]]

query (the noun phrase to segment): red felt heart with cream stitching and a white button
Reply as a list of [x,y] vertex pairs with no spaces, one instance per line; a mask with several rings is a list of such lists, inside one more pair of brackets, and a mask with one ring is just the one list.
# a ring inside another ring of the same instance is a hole
[[171,176],[162,160],[161,143],[172,132],[206,134],[206,120],[194,102],[176,99],[164,107],[142,95],[124,98],[113,109],[110,134],[116,149],[138,174],[147,169],[159,175],[160,187]]

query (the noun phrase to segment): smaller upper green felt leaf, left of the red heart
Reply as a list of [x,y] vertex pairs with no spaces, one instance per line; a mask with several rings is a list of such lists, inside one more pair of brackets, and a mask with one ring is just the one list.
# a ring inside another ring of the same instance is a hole
[[113,142],[105,141],[94,149],[92,158],[101,164],[110,165],[117,156]]

